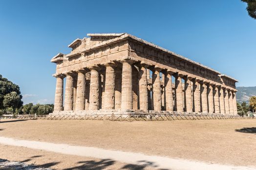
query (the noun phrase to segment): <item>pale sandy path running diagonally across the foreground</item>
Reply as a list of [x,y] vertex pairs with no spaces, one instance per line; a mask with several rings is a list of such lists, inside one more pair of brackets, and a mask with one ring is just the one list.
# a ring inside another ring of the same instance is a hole
[[40,149],[50,152],[71,154],[78,156],[95,157],[100,159],[113,159],[129,164],[145,164],[149,167],[171,169],[171,170],[256,170],[256,168],[230,166],[220,164],[208,164],[185,159],[173,159],[162,156],[150,156],[142,153],[130,153],[121,151],[111,151],[94,147],[71,146],[67,144],[55,144],[48,142],[16,140],[8,137],[0,137],[0,143],[5,145]]

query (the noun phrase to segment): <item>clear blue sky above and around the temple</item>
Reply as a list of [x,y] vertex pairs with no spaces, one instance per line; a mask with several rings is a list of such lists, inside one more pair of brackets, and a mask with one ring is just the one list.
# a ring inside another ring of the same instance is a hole
[[129,33],[256,86],[256,20],[240,0],[0,0],[0,74],[53,103],[50,59],[87,33]]

